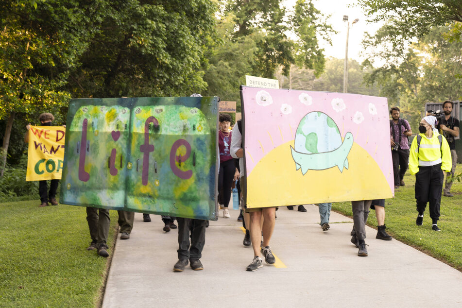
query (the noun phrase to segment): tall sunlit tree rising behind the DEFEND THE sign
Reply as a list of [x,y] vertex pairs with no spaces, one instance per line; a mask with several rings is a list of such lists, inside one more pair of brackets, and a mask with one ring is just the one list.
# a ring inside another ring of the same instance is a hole
[[326,39],[334,31],[312,1],[297,0],[294,11],[289,12],[280,0],[230,0],[225,11],[236,16],[234,38],[260,33],[252,74],[273,78],[281,66],[287,76],[295,63],[314,69],[316,75],[323,71],[324,55],[317,34]]

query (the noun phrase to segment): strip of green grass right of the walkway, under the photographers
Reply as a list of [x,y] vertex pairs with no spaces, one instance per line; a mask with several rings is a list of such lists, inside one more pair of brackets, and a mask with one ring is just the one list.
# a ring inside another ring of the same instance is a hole
[[[456,173],[462,171],[457,165]],[[387,233],[394,239],[409,244],[428,255],[438,258],[450,266],[462,271],[462,183],[455,181],[451,192],[454,197],[441,197],[441,216],[438,226],[441,232],[431,230],[431,218],[428,205],[424,213],[423,226],[416,226],[417,210],[414,198],[415,176],[409,171],[404,177],[406,186],[395,191],[393,199],[385,200],[385,224]],[[350,202],[334,203],[332,209],[344,215],[353,216]],[[376,227],[375,211],[371,210],[367,221],[369,226]],[[369,234],[368,237],[375,237]]]

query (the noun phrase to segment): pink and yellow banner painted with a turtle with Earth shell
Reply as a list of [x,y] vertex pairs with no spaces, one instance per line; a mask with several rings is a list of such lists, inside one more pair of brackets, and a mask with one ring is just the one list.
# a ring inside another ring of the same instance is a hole
[[391,198],[386,98],[242,86],[247,206]]

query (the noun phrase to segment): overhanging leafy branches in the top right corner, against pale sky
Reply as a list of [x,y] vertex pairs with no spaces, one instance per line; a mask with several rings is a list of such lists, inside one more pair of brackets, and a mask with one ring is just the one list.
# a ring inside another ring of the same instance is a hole
[[[406,39],[428,34],[434,26],[453,24],[454,35],[461,34],[460,0],[359,0],[370,21],[397,19],[397,31]],[[459,24],[458,24],[459,23]]]

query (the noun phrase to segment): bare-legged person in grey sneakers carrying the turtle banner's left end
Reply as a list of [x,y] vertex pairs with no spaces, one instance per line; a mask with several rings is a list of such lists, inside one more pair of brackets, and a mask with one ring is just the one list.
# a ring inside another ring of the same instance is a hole
[[[233,130],[233,139],[231,140],[231,156],[234,158],[240,158],[240,189],[242,194],[246,195],[246,179],[244,174],[244,151],[242,147],[242,124],[238,121],[238,129]],[[265,257],[265,261],[268,264],[274,264],[276,259],[270,248],[270,239],[273,235],[274,224],[276,219],[276,207],[258,207],[258,208],[247,208],[245,202],[242,203],[245,211],[250,213],[250,238],[252,241],[252,247],[254,249],[254,259],[247,266],[247,271],[254,272],[259,268],[263,267],[260,253]],[[263,225],[260,226],[261,217],[263,219]],[[261,236],[263,234],[263,244],[261,244]]]

